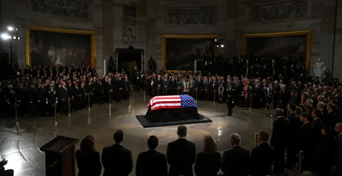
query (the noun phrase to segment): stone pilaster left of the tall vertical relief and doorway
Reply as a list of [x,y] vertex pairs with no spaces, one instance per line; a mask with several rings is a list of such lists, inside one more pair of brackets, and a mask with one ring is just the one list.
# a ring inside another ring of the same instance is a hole
[[[114,58],[113,51],[113,3],[112,0],[103,1],[103,59],[108,60],[110,56]],[[108,62],[106,62],[108,65]],[[107,65],[104,67],[107,68]]]

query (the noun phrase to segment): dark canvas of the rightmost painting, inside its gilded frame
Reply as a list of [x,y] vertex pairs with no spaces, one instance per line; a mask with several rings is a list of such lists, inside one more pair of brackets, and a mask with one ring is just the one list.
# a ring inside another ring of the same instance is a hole
[[305,63],[306,35],[280,37],[253,37],[247,39],[248,55],[275,59],[275,62],[290,59]]

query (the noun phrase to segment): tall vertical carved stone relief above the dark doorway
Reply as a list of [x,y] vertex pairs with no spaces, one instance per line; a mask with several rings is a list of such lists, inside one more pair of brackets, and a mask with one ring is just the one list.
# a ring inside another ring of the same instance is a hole
[[137,10],[135,7],[123,7],[122,15],[123,43],[136,44]]

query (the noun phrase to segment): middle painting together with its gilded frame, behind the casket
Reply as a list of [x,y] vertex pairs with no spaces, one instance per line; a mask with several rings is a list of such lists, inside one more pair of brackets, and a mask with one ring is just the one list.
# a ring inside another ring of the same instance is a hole
[[193,71],[195,60],[214,58],[218,35],[163,35],[162,67],[167,71]]

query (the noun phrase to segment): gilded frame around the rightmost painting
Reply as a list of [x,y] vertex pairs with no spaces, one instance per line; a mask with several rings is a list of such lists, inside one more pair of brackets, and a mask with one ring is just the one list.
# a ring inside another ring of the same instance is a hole
[[294,31],[294,32],[281,32],[281,33],[266,33],[266,34],[244,34],[242,37],[242,50],[244,53],[247,51],[247,38],[254,37],[283,37],[283,36],[296,36],[306,35],[306,56],[305,56],[305,68],[310,69],[310,53],[311,53],[311,36],[312,31]]

